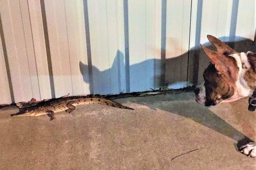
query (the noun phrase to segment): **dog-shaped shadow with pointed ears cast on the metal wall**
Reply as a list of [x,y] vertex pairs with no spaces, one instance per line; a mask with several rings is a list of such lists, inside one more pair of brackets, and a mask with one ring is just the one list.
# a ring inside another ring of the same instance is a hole
[[[227,37],[219,39],[224,41],[227,40]],[[237,52],[255,51],[256,48],[252,40],[242,37],[236,37],[236,40],[240,41],[227,42],[227,44],[234,46]],[[203,45],[211,50],[216,50],[209,42]],[[166,51],[166,54],[168,54],[168,51]],[[92,65],[90,70],[88,65],[80,62],[80,72],[83,75],[83,80],[89,83],[90,86],[93,85],[93,87],[90,87],[90,89],[93,89],[92,93],[108,94],[110,92],[121,93],[126,89],[126,86],[130,87],[130,92],[133,92],[150,90],[150,88],[159,89],[166,85],[169,88],[197,85],[204,81],[203,72],[210,62],[202,48],[192,48],[189,52],[170,59],[148,59],[130,65],[129,75],[127,75],[125,70],[127,66],[124,61],[124,54],[117,51],[110,69],[100,71]],[[188,62],[184,63],[184,61]],[[165,68],[162,65],[165,65]],[[89,79],[89,72],[93,73],[93,83]],[[116,73],[116,75],[110,77],[111,73]],[[125,81],[126,76],[130,77],[130,82]],[[110,85],[112,85],[112,90]],[[129,91],[126,91],[126,93],[129,93]]]

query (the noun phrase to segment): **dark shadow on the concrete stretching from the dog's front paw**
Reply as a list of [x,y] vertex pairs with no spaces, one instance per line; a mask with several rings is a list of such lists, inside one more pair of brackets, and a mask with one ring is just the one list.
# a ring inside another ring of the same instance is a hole
[[[130,98],[129,101],[148,106],[154,110],[160,109],[189,118],[205,127],[221,133],[222,135],[236,140],[237,143],[234,143],[236,150],[239,150],[242,145],[252,142],[252,140],[243,133],[239,132],[225,120],[214,114],[214,112],[210,111],[208,107],[196,103],[194,101],[194,96],[191,95],[191,93],[165,97],[162,95],[142,97],[139,102],[135,98]],[[170,105],[166,105],[165,101],[170,102]]]

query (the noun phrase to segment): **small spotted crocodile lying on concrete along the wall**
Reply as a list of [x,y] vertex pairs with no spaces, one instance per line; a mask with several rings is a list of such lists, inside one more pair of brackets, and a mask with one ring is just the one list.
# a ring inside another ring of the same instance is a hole
[[127,106],[123,106],[119,103],[114,101],[105,99],[105,98],[98,98],[98,97],[87,97],[87,96],[70,96],[64,98],[56,98],[51,99],[49,101],[42,101],[39,102],[37,106],[27,107],[20,109],[20,112],[16,114],[11,114],[11,116],[40,116],[47,114],[50,117],[50,120],[54,119],[54,113],[60,111],[67,111],[71,113],[75,110],[75,106],[83,105],[83,104],[104,104],[107,106],[112,106],[120,109],[130,109]]

